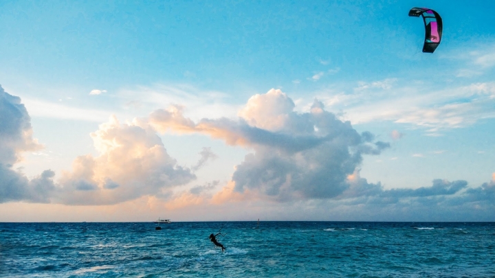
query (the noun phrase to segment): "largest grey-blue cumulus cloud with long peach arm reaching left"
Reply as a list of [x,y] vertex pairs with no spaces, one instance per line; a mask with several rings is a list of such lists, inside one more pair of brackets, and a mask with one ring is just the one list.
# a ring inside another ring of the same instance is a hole
[[252,148],[236,166],[230,192],[258,192],[278,201],[338,196],[363,154],[390,147],[373,141],[370,132],[360,135],[318,100],[309,113],[296,113],[292,99],[280,90],[254,95],[239,116],[237,121],[201,119],[196,124],[172,107],[151,113],[149,123],[163,132],[200,132]]

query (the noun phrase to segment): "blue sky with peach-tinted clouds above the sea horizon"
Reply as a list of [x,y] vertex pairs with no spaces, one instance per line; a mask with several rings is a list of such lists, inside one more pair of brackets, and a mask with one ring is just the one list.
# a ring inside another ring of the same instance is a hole
[[1,1],[0,222],[495,221],[494,9]]

